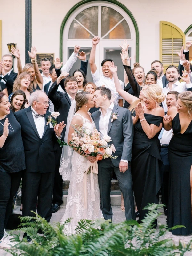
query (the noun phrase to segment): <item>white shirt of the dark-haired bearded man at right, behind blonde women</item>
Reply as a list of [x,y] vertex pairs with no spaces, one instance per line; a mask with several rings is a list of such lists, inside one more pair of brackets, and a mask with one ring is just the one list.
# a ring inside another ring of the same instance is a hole
[[[167,93],[170,91],[177,91],[179,93],[187,91],[188,88],[192,87],[192,84],[186,84],[185,82],[175,82],[175,84],[172,85],[172,89],[169,89],[169,83],[163,88],[162,92],[165,96],[167,96]],[[167,104],[166,99],[162,102],[162,107],[164,108],[164,111],[167,111]]]

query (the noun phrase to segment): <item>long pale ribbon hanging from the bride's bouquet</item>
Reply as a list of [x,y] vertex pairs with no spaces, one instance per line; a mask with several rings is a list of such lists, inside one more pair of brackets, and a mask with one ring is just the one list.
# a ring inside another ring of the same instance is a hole
[[89,172],[89,168],[91,169],[90,172],[90,181],[91,181],[91,200],[95,201],[95,186],[94,186],[94,179],[93,173],[98,174],[98,166],[97,161],[91,163],[87,160],[86,171],[84,172],[84,208],[87,209],[87,173]]

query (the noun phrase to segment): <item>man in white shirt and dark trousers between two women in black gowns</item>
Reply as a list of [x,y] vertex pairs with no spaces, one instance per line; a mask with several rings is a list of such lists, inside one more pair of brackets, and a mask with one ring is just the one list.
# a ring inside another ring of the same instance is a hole
[[[167,108],[176,106],[179,92],[170,91],[167,93],[166,104]],[[166,113],[167,114],[167,113]],[[164,207],[164,213],[167,216],[167,204],[168,204],[168,186],[169,186],[169,159],[168,159],[168,146],[169,142],[173,136],[173,129],[166,131],[162,128],[159,134],[159,141],[161,146],[161,179],[162,179],[162,203],[166,204]]]

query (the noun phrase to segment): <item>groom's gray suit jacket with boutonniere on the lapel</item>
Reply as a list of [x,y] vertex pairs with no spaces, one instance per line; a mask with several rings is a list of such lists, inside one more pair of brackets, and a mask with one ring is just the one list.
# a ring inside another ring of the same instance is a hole
[[[115,167],[119,166],[121,159],[131,161],[132,143],[133,143],[133,120],[131,112],[119,106],[114,105],[112,113],[117,113],[118,119],[111,123],[109,119],[107,135],[111,137],[109,144],[114,144],[116,152],[113,156],[118,156],[116,159],[111,159]],[[96,129],[99,131],[100,111],[92,113],[92,118],[95,122]]]

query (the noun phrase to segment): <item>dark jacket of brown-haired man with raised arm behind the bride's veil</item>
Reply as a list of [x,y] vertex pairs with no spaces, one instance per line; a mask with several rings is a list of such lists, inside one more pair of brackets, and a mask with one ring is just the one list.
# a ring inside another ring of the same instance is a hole
[[[57,117],[58,123],[64,121],[67,124],[67,116],[69,108],[71,106],[71,100],[68,97],[67,93],[58,92],[57,89],[59,84],[55,81],[48,92],[48,97],[54,105],[54,110],[60,113],[60,116]],[[63,135],[65,134],[66,126],[63,129]]]

